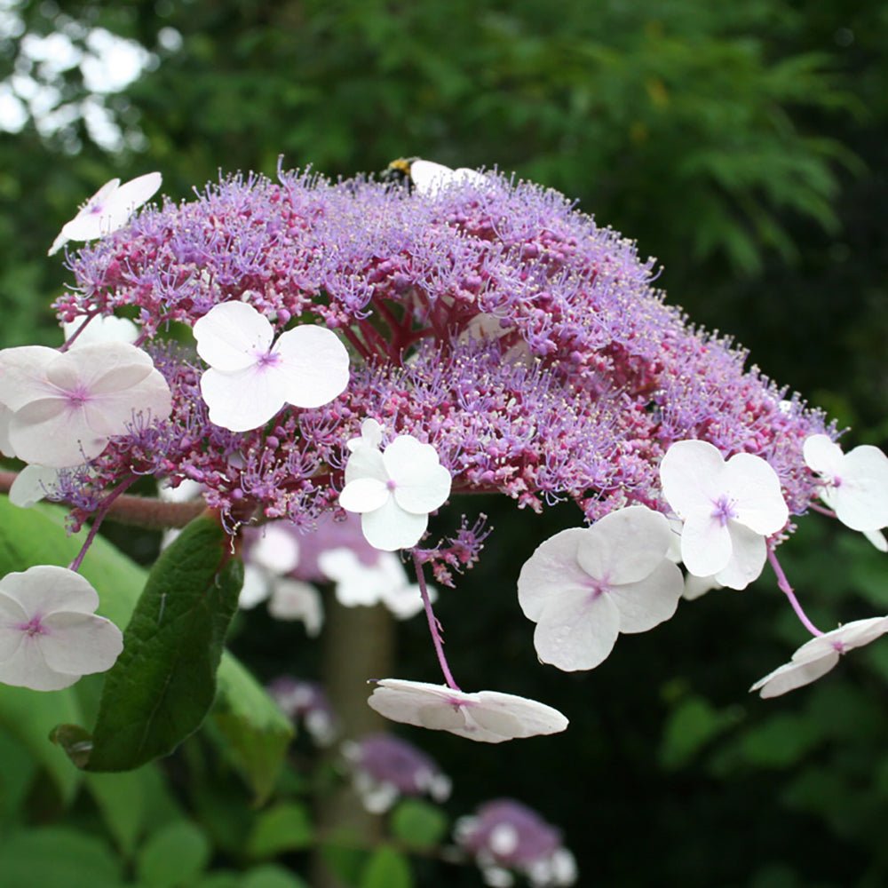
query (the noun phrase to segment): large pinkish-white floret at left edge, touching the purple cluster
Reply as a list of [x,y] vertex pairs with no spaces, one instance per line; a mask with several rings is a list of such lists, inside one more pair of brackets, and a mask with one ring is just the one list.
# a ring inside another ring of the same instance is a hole
[[150,355],[104,342],[59,353],[44,345],[0,352],[0,402],[12,410],[15,456],[56,469],[99,456],[133,414],[170,415],[170,387]]

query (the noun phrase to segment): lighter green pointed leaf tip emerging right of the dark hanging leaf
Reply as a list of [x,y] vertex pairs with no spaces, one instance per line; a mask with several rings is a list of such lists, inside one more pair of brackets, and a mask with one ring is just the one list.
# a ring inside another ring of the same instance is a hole
[[227,652],[218,673],[219,695],[213,722],[226,751],[250,784],[254,804],[271,795],[293,739],[293,726],[258,681]]

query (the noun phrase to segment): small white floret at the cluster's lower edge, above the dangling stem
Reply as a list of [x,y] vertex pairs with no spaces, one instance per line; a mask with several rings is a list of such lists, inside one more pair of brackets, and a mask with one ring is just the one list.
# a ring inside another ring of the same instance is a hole
[[450,472],[431,444],[399,435],[380,452],[382,432],[374,419],[361,424],[361,437],[348,442],[345,488],[339,504],[361,514],[361,530],[383,551],[409,549],[425,533],[429,512],[450,496]]

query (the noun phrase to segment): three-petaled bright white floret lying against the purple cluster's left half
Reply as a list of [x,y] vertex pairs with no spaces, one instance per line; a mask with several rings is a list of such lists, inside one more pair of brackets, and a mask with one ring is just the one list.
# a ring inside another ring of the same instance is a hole
[[305,324],[274,341],[271,321],[245,302],[214,305],[194,338],[210,365],[201,377],[210,422],[231,432],[265,425],[285,404],[321,407],[348,385],[348,352],[332,330]]

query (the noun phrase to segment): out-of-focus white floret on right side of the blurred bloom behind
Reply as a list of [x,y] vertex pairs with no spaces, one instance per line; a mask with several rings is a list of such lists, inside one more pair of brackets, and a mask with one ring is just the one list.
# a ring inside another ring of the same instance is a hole
[[[345,607],[384,604],[399,620],[408,620],[423,609],[416,583],[408,583],[407,572],[397,555],[380,552],[375,564],[366,565],[345,546],[328,549],[318,556],[318,567],[336,583],[336,597]],[[437,591],[428,587],[429,600]]]

